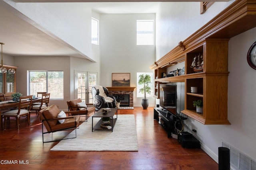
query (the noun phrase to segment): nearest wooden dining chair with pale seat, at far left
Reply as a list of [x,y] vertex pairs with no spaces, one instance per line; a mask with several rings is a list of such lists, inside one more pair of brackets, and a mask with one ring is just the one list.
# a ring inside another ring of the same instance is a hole
[[32,95],[31,96],[20,96],[18,109],[6,111],[3,113],[4,116],[4,130],[6,129],[7,118],[16,117],[16,123],[18,130],[20,129],[20,117],[26,117],[28,125],[30,125],[30,109],[32,106]]

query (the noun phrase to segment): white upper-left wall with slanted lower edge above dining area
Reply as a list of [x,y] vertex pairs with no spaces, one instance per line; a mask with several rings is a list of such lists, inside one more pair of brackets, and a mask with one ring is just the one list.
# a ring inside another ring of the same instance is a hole
[[[91,39],[90,5],[86,3],[15,3],[5,0],[8,4],[24,14],[22,19],[40,25],[40,29],[48,35],[54,35],[68,43],[74,50],[86,55],[93,61]],[[59,40],[60,41],[60,40]],[[61,41],[61,42],[62,42]]]

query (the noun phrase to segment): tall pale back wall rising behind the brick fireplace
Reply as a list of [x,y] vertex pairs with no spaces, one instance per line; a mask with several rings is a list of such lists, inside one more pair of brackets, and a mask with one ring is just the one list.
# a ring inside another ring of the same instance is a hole
[[[112,86],[112,73],[130,73],[130,86],[136,87],[137,72],[154,72],[154,45],[136,45],[136,20],[155,20],[155,14],[101,14],[100,15],[100,85]],[[142,107],[142,98],[136,97],[134,107]],[[155,106],[155,98],[149,98]]]

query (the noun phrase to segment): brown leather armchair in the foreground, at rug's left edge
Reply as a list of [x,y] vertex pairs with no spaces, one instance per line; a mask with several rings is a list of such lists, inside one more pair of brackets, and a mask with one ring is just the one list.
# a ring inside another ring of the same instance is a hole
[[[54,142],[54,141],[61,141],[63,139],[55,139],[55,140],[48,140],[44,141],[44,134],[46,133],[54,133],[58,131],[64,130],[74,130],[75,129],[75,137],[64,138],[64,139],[73,139],[76,138],[76,128],[79,126],[80,115],[68,116],[66,117],[59,117],[60,110],[56,105],[48,106],[38,112],[40,119],[42,120],[42,138],[43,143]],[[60,123],[59,120],[64,122]],[[44,127],[46,131],[44,131]]]

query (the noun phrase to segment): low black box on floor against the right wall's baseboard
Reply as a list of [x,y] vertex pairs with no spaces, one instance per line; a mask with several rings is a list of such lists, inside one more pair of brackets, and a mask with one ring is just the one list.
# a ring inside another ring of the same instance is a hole
[[181,134],[178,135],[178,142],[183,148],[200,148],[200,142],[198,139],[196,139],[193,135],[189,135],[190,137],[187,135],[185,136],[186,137]]

